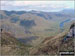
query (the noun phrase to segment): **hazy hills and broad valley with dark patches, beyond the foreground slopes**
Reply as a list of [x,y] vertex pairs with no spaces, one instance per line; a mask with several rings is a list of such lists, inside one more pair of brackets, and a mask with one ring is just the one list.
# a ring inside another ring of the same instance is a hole
[[[45,37],[54,36],[62,32],[62,29],[67,30],[72,18],[75,18],[72,9],[59,12],[0,10],[0,28],[11,32],[21,41],[29,40],[27,44],[36,45]],[[66,20],[69,21],[66,23]]]

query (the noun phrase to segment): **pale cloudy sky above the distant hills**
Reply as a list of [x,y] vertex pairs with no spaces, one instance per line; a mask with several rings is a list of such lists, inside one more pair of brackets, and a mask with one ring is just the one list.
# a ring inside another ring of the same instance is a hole
[[74,9],[74,1],[1,1],[1,10],[60,11]]

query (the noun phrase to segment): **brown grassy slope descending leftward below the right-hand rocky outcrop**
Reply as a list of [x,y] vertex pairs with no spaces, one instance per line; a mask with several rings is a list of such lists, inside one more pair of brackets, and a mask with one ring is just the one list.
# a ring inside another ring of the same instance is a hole
[[46,38],[40,46],[32,48],[30,54],[56,55],[59,54],[59,51],[73,51],[73,38],[69,38],[67,42],[62,43],[66,35],[67,32],[63,32],[56,36]]

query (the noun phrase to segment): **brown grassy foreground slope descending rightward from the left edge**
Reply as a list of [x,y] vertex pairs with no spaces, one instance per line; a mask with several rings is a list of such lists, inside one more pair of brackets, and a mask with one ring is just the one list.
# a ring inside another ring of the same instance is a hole
[[2,55],[26,55],[28,54],[28,45],[19,42],[9,33],[2,33],[1,54]]

